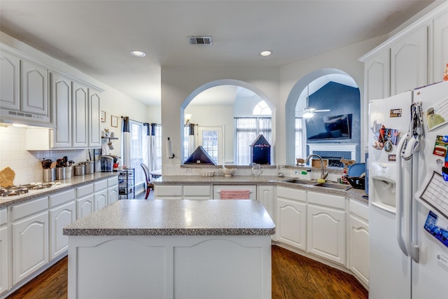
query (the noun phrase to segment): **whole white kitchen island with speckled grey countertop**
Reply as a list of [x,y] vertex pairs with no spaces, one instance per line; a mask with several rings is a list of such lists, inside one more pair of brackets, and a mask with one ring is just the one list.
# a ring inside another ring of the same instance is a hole
[[253,200],[120,200],[64,228],[69,298],[271,298]]

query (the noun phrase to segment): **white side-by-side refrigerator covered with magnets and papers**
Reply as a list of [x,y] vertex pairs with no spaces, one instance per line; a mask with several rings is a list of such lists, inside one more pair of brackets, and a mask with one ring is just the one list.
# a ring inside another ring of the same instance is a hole
[[448,82],[369,103],[369,298],[448,298],[447,122]]

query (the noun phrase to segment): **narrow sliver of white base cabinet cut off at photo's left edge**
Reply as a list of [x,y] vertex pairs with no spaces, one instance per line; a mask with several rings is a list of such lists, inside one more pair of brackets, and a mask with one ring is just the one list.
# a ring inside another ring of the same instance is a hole
[[0,209],[0,294],[8,291],[8,218],[6,208]]

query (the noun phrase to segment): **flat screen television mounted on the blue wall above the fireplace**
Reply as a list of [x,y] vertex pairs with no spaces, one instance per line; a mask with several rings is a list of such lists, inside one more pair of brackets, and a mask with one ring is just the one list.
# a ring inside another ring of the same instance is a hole
[[352,114],[314,115],[305,121],[308,140],[351,139]]

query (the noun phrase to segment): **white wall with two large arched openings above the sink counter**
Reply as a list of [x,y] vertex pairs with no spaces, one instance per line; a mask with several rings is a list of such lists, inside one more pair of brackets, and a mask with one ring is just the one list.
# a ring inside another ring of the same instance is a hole
[[[163,138],[170,137],[173,141],[174,153],[180,153],[180,126],[183,101],[200,86],[220,79],[237,79],[250,83],[267,95],[274,104],[273,115],[275,140],[272,148],[275,164],[293,165],[294,161],[286,161],[286,100],[290,91],[300,78],[318,69],[340,69],[349,74],[358,83],[361,99],[364,98],[364,65],[358,61],[369,50],[386,39],[381,36],[361,43],[356,43],[322,55],[310,57],[307,60],[287,64],[283,67],[162,67],[162,123]],[[298,97],[298,95],[297,95]],[[364,104],[361,103],[361,109]],[[237,113],[235,111],[235,113]],[[165,121],[167,120],[167,121]],[[176,166],[180,164],[177,158],[164,157],[164,174],[181,174]]]

